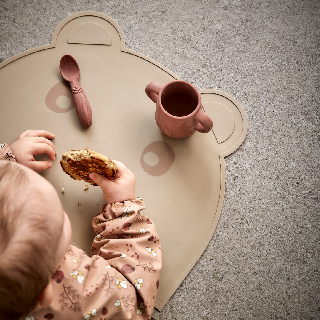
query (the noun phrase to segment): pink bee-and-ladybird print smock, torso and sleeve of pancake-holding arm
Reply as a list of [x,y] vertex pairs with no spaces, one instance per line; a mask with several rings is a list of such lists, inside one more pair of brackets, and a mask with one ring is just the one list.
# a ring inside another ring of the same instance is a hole
[[52,278],[49,308],[35,319],[150,320],[162,268],[162,249],[141,198],[104,204],[93,219],[91,258],[69,246]]

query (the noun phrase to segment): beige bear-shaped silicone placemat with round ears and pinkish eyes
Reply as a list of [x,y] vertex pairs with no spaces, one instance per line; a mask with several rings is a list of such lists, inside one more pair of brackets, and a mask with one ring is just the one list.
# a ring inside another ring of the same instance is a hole
[[[92,108],[89,128],[78,119],[71,89],[60,75],[64,54],[72,55],[80,66],[79,83]],[[151,81],[173,80],[180,78],[124,47],[123,33],[114,20],[90,11],[64,19],[51,44],[0,64],[1,116],[6,119],[1,137],[10,143],[30,128],[55,133],[58,155],[43,176],[60,194],[76,245],[90,252],[92,218],[104,199],[99,187],[84,190],[86,183],[62,171],[62,153],[88,147],[122,161],[135,174],[136,195],[146,205],[143,213],[153,219],[162,243],[159,310],[212,237],[224,198],[224,157],[240,146],[247,132],[239,102],[225,92],[207,89],[199,92],[203,109],[213,120],[213,132],[196,132],[186,139],[165,136],[156,125],[155,104],[145,87]],[[150,242],[155,251],[161,250],[157,240]]]

